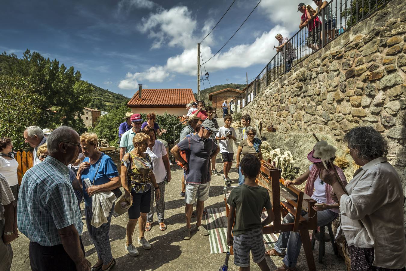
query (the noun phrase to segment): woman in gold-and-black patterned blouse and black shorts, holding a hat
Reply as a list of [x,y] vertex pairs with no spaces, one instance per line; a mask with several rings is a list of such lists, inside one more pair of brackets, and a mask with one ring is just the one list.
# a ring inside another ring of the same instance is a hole
[[[140,234],[138,244],[144,249],[150,249],[151,245],[145,239],[145,224],[147,222],[147,213],[151,204],[151,191],[154,189],[155,199],[160,198],[160,191],[152,172],[151,157],[145,153],[148,147],[150,137],[144,133],[137,133],[132,139],[134,150],[124,155],[121,161],[121,184],[123,184],[125,199],[132,201],[132,206],[128,209],[127,223],[127,241],[125,249],[131,256],[137,256],[138,250],[132,244],[132,234],[138,218],[141,217],[138,227]],[[152,187],[151,187],[152,185]]]

